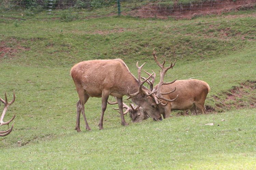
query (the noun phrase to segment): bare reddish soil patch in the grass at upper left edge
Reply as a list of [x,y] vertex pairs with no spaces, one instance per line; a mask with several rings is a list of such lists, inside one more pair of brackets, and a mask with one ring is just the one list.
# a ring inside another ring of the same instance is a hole
[[10,42],[14,42],[14,47],[7,45],[6,41],[0,41],[0,58],[2,57],[14,57],[20,50],[30,50],[30,48],[25,48],[19,45],[19,42],[15,38],[11,38]]

